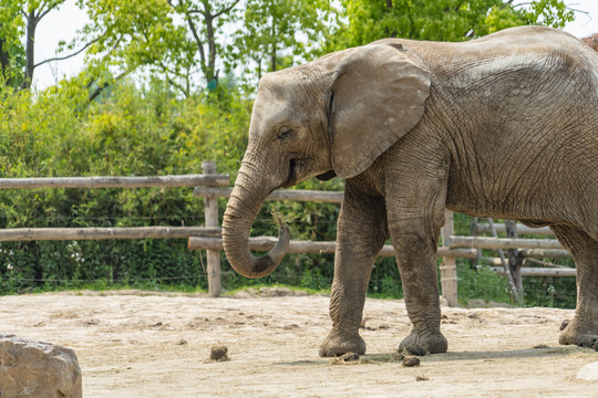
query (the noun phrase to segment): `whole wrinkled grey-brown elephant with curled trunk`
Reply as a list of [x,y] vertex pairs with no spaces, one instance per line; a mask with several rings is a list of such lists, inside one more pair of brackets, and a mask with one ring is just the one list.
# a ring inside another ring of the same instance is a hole
[[272,272],[247,240],[265,198],[313,176],[346,178],[320,355],[364,353],[374,259],[390,237],[411,334],[446,352],[436,243],[445,208],[549,226],[577,264],[577,310],[560,344],[598,337],[598,54],[538,27],[464,43],[382,40],[261,78],[249,145],[223,223],[243,275]]

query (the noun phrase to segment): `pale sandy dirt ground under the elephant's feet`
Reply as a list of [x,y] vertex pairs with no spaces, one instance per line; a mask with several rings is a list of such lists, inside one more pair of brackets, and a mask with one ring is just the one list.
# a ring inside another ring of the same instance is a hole
[[[598,397],[576,377],[598,362],[559,346],[573,311],[443,307],[448,353],[403,367],[401,301],[368,300],[368,354],[318,357],[328,297],[265,289],[236,297],[137,291],[0,297],[0,334],[75,350],[90,397]],[[213,346],[229,360],[210,362]]]

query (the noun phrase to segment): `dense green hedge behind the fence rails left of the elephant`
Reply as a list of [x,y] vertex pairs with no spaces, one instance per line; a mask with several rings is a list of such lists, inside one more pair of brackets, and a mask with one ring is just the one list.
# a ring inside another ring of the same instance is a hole
[[[239,167],[250,111],[245,100],[179,101],[161,82],[142,90],[123,82],[105,101],[73,112],[73,93],[1,93],[2,177],[194,174],[203,159],[215,159],[221,172]],[[2,229],[200,226],[202,214],[203,201],[190,188],[0,190]],[[2,242],[0,293],[90,281],[205,285],[202,255],[186,244]]]

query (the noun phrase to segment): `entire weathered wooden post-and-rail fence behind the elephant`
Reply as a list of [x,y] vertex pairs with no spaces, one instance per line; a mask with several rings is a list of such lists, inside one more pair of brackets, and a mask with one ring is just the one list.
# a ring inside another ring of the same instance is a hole
[[[85,239],[146,239],[146,238],[188,238],[188,248],[206,250],[209,294],[219,296],[220,285],[220,251],[223,250],[221,229],[218,212],[218,198],[230,196],[231,188],[228,175],[216,172],[214,161],[204,161],[203,175],[155,176],[155,177],[69,177],[69,178],[12,178],[0,179],[0,189],[32,189],[32,188],[141,188],[141,187],[195,187],[194,193],[204,197],[205,227],[136,227],[136,228],[20,228],[0,230],[0,241],[18,240],[85,240]],[[315,190],[277,190],[267,200],[295,200],[340,203],[342,192]],[[549,229],[532,229],[517,226],[520,234],[545,235]],[[474,237],[457,237],[454,234],[453,212],[446,211],[446,222],[442,230],[442,245],[439,256],[443,258],[441,285],[443,296],[448,305],[457,305],[457,274],[455,258],[485,261],[498,273],[512,281],[512,268],[507,264],[503,249],[523,249],[519,258],[567,259],[570,254],[558,241],[553,239],[505,239],[497,238],[504,232],[504,224],[476,223],[472,227]],[[493,237],[480,237],[492,233]],[[257,251],[270,250],[277,239],[272,237],[249,238],[249,249]],[[496,250],[499,258],[482,258],[482,249]],[[336,242],[311,242],[291,240],[291,253],[333,253]],[[380,256],[393,256],[394,248],[383,247]],[[548,264],[554,265],[554,264]],[[520,276],[574,276],[575,269],[568,268],[519,268]],[[511,276],[509,276],[511,275]]]

